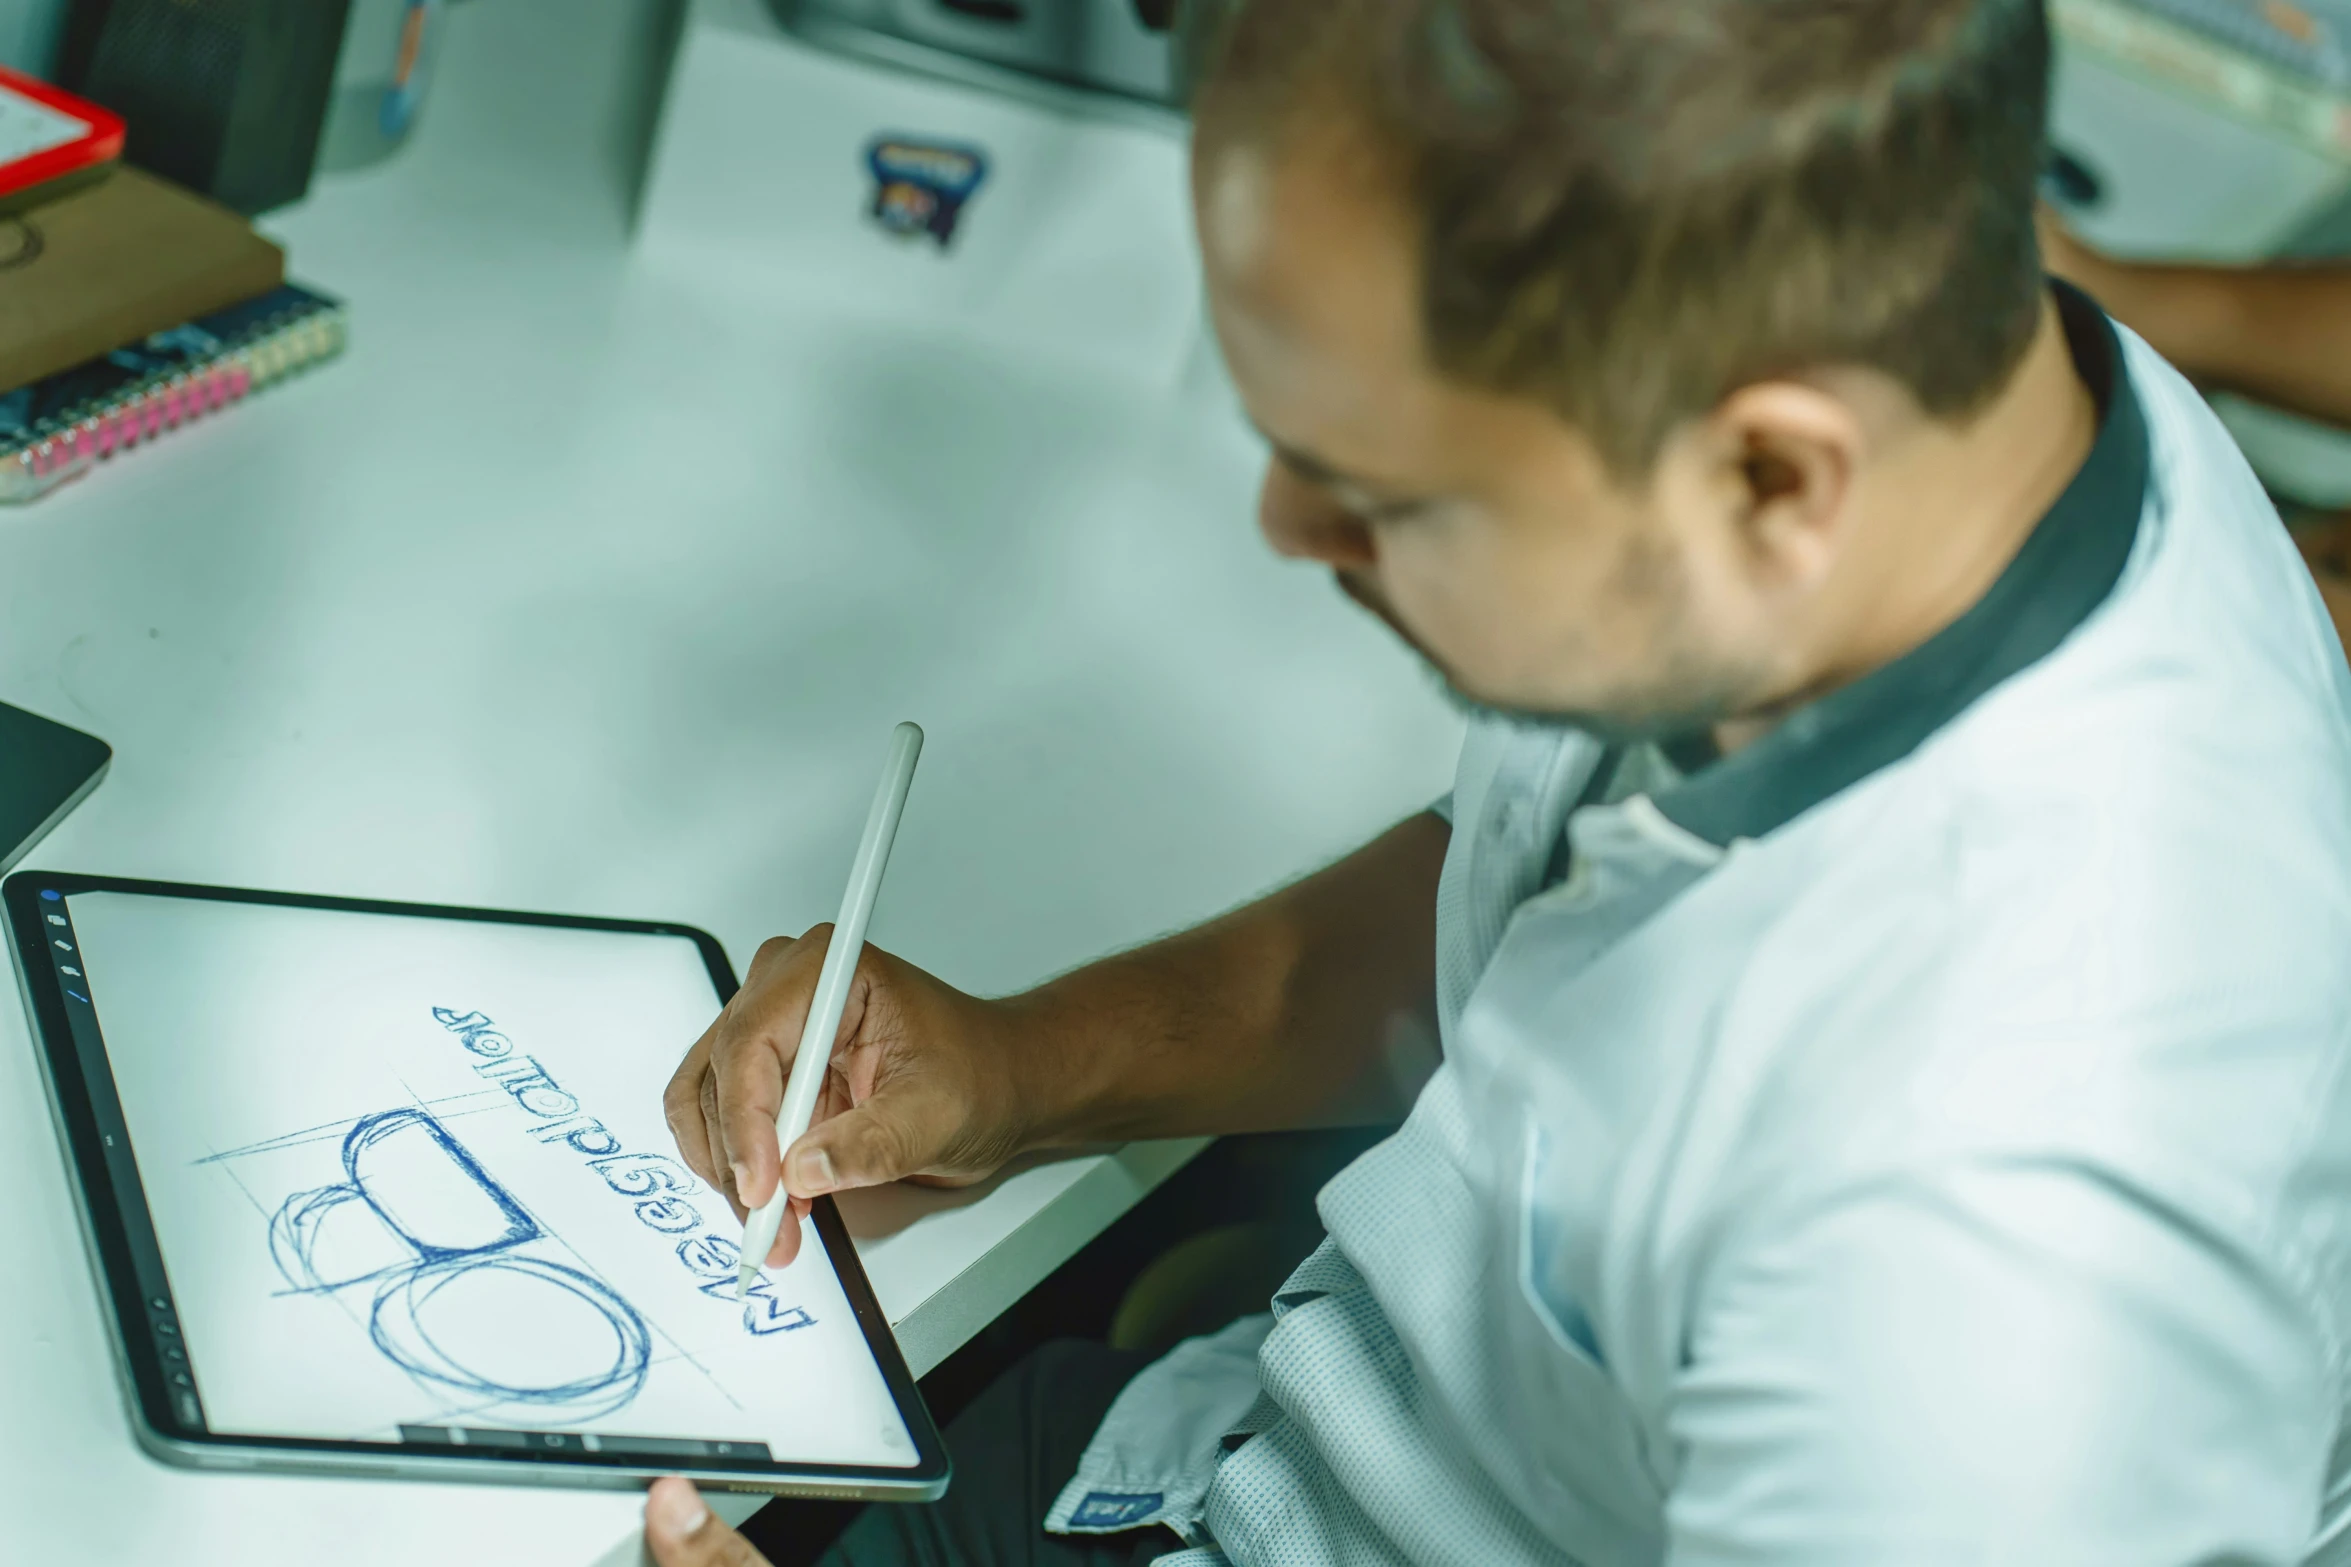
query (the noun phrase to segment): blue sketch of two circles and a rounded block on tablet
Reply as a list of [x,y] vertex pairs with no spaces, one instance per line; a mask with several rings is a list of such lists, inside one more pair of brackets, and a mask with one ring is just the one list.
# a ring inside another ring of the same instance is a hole
[[426,1109],[350,1123],[343,1179],[296,1191],[270,1217],[289,1290],[374,1285],[369,1339],[411,1377],[477,1407],[569,1419],[625,1407],[654,1356],[644,1318],[604,1280],[529,1247],[560,1250]]

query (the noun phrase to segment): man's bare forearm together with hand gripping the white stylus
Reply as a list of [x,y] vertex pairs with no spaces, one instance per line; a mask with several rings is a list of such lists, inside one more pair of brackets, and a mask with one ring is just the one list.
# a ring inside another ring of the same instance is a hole
[[[694,1172],[766,1203],[896,1179],[976,1182],[1030,1149],[1401,1121],[1436,1067],[1436,876],[1420,813],[1338,865],[1023,996],[980,1001],[868,947],[809,1132],[776,1107],[832,926],[773,940],[686,1052],[663,1109]],[[766,1262],[799,1250],[776,1231]]]

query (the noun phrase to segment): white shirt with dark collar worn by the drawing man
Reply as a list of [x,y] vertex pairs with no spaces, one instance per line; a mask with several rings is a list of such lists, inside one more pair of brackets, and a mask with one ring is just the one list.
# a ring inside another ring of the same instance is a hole
[[1051,1527],[2351,1562],[2351,672],[2196,392],[2059,298],[2095,449],[1940,637],[1627,799],[1472,733],[1444,1067]]

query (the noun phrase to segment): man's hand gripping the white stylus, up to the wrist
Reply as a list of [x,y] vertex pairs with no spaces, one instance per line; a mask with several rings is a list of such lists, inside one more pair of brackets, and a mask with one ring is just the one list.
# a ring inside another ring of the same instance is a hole
[[[830,937],[832,926],[816,926],[797,942],[759,947],[743,989],[663,1095],[677,1151],[738,1219],[776,1191],[776,1109]],[[1018,1081],[1013,1038],[1004,1003],[868,944],[816,1116],[781,1163],[795,1222],[776,1233],[766,1264],[783,1266],[799,1250],[797,1219],[816,1196],[905,1177],[976,1182],[1020,1154],[1034,1097]]]

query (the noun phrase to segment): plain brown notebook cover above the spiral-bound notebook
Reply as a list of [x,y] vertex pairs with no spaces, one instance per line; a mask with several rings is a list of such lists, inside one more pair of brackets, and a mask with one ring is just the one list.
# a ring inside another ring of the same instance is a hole
[[120,167],[0,218],[0,392],[268,294],[284,270],[230,209]]

